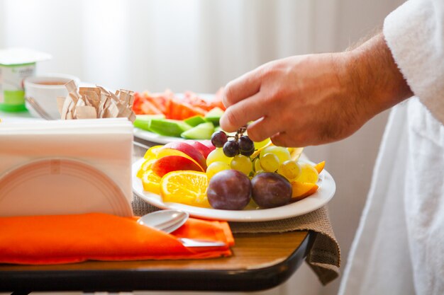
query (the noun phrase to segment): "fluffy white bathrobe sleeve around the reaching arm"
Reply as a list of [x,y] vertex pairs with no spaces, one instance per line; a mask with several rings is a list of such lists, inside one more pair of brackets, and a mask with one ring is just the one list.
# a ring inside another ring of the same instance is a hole
[[411,90],[444,124],[444,0],[406,1],[383,31]]

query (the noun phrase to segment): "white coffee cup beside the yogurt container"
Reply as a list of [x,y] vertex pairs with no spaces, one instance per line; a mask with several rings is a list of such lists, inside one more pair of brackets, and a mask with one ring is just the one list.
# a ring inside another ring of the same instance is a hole
[[[25,96],[33,98],[43,110],[48,112],[54,119],[60,119],[60,113],[57,109],[57,97],[66,97],[68,95],[65,84],[74,80],[79,86],[80,79],[76,76],[67,74],[44,74],[41,76],[28,77],[24,81]],[[26,108],[33,117],[40,117],[35,112],[32,105],[26,102]]]

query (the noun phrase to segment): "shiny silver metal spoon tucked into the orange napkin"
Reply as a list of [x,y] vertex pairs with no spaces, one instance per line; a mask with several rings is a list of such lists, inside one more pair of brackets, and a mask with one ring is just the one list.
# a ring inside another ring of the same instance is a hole
[[[143,226],[150,226],[154,229],[171,233],[184,225],[188,218],[189,214],[187,212],[168,209],[145,214],[140,217],[137,222]],[[223,242],[198,240],[194,238],[177,238],[177,240],[185,247],[221,247],[226,245],[226,243]]]

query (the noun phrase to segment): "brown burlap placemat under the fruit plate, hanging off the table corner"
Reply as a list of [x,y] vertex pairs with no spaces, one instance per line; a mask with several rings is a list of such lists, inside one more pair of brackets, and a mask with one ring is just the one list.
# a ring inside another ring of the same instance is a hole
[[[142,216],[159,210],[134,195],[133,212]],[[287,231],[315,231],[316,238],[306,262],[322,284],[328,284],[339,275],[340,248],[328,216],[327,207],[289,219],[260,222],[229,222],[233,233],[283,233]]]

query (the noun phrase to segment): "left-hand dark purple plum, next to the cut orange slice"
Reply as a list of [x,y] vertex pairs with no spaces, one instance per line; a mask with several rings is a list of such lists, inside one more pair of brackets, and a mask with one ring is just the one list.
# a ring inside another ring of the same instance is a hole
[[250,178],[238,170],[222,170],[211,178],[206,196],[214,209],[242,210],[250,202]]

